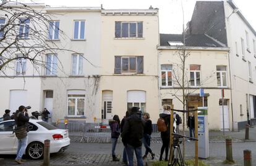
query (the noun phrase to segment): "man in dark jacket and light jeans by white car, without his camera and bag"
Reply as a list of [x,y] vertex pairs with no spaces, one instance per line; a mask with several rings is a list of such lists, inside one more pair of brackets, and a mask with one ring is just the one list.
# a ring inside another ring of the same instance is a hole
[[[25,113],[25,115],[24,115]],[[15,123],[17,127],[27,126],[27,122],[29,121],[27,109],[25,106],[20,106],[19,110],[14,116]],[[28,128],[27,128],[28,130]],[[18,139],[18,149],[17,149],[17,157],[15,159],[15,162],[18,164],[23,164],[25,160],[22,160],[22,155],[25,152],[25,149],[27,148],[28,144],[28,136],[25,136],[24,138]]]

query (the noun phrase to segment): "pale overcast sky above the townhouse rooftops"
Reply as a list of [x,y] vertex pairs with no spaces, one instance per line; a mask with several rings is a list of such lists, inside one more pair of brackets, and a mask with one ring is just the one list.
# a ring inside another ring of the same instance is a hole
[[[49,6],[100,7],[103,4],[105,9],[148,9],[151,5],[159,9],[160,33],[182,32],[181,1],[184,6],[186,24],[192,17],[196,0],[40,0],[40,2],[45,2]],[[234,2],[250,25],[256,30],[256,1],[234,0]]]

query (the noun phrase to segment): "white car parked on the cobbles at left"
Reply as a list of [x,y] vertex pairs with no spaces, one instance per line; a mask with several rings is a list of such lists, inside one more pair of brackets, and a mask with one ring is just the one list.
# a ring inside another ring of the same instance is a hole
[[[15,121],[0,122],[0,154],[16,154],[17,137],[12,131]],[[70,144],[68,130],[54,127],[41,120],[30,119],[28,122],[28,146],[25,154],[32,159],[43,157],[44,141],[50,140],[50,153],[63,152]]]

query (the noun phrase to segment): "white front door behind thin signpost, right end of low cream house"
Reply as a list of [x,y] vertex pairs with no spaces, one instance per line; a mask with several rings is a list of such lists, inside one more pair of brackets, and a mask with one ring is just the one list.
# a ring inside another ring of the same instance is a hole
[[221,130],[223,130],[223,109],[224,109],[224,128],[226,131],[229,131],[229,113],[228,113],[228,100],[224,99],[223,107],[222,107],[222,99],[220,99],[220,126]]

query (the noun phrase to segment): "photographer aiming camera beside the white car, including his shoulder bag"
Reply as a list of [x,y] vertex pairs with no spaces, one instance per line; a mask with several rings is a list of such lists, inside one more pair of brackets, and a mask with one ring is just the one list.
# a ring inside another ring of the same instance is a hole
[[23,162],[25,162],[25,160],[22,159],[22,155],[25,152],[28,144],[27,122],[29,121],[29,117],[27,109],[30,108],[30,106],[28,106],[27,108],[25,106],[19,106],[19,110],[17,111],[17,113],[15,113],[14,116],[14,120],[17,125],[17,127],[15,128],[15,135],[18,138],[17,157],[15,158],[15,162],[17,162],[18,164],[23,164]]

